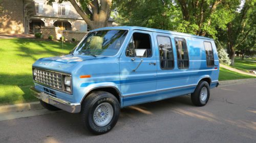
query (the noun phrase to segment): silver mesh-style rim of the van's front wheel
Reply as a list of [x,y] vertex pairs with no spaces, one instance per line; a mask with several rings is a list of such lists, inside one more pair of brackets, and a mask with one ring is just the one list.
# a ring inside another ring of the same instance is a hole
[[110,103],[99,104],[93,113],[94,123],[99,127],[108,125],[113,118],[113,112],[113,107]]

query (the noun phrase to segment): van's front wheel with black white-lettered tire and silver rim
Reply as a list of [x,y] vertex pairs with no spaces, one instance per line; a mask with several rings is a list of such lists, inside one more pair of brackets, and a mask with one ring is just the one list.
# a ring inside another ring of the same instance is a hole
[[119,112],[119,102],[114,95],[96,91],[82,102],[82,123],[92,133],[103,134],[116,125]]

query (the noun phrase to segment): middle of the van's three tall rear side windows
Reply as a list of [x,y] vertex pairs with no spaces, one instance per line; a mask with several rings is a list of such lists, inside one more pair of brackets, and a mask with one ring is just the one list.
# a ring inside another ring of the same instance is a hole
[[175,45],[177,50],[177,62],[179,69],[187,69],[188,68],[188,51],[187,44],[185,39],[183,38],[175,38]]

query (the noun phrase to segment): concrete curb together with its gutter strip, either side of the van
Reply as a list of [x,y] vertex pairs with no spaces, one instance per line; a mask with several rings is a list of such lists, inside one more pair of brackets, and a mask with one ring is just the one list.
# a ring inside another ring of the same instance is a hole
[[[219,87],[226,87],[229,85],[256,83],[256,78],[238,79],[219,81]],[[17,118],[25,118],[30,116],[45,115],[47,113],[54,113],[56,111],[49,111],[41,106],[40,102],[31,102],[14,105],[0,106],[0,121],[11,120]]]

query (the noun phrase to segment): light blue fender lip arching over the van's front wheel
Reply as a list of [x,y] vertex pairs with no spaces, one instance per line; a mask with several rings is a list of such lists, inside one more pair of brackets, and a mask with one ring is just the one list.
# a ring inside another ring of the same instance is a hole
[[100,88],[114,88],[119,93],[120,99],[122,99],[120,88],[116,83],[114,83],[114,82],[100,82],[100,83],[92,83],[92,84],[88,85],[86,88],[84,88],[84,90],[82,92],[84,95],[81,98],[80,103],[82,103],[83,99],[88,96],[88,93],[90,93],[92,90],[100,89]]

